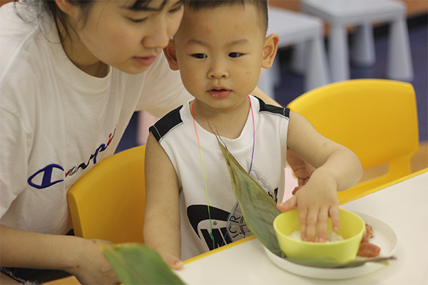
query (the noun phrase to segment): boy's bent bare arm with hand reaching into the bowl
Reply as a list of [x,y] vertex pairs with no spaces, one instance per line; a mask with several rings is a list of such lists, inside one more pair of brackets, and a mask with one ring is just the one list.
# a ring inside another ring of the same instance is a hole
[[351,150],[320,135],[302,115],[294,112],[290,112],[287,146],[316,170],[307,183],[278,208],[284,212],[297,206],[302,238],[314,241],[318,224],[319,240],[325,241],[329,216],[333,229],[339,227],[336,191],[347,190],[360,181],[360,160]]

